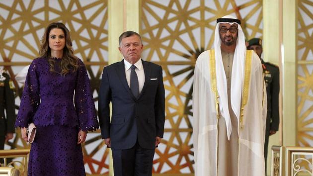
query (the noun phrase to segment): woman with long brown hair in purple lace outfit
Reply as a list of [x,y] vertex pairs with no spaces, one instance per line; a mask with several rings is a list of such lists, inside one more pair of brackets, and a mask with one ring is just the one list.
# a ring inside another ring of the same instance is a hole
[[28,69],[15,122],[25,141],[27,125],[37,127],[28,176],[85,176],[81,143],[98,128],[86,68],[60,22],[46,28],[39,53]]

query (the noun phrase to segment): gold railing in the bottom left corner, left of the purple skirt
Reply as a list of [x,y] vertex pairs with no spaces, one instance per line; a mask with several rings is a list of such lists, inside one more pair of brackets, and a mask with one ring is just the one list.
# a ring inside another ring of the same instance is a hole
[[[27,167],[28,167],[28,154],[29,149],[14,149],[14,150],[0,150],[0,158],[3,158],[4,165],[0,167],[0,173],[11,175],[13,169],[9,167],[10,165],[20,164],[20,167],[16,168],[20,172],[20,176],[27,176]],[[8,158],[22,158],[22,161],[11,161],[7,163]],[[17,165],[16,165],[17,167]]]

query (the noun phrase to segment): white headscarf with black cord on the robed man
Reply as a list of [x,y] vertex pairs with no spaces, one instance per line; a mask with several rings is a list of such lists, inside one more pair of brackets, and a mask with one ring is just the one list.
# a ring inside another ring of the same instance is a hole
[[228,108],[228,93],[227,93],[227,81],[226,75],[223,66],[223,60],[221,55],[221,38],[220,38],[220,23],[229,23],[229,24],[238,24],[238,37],[236,41],[236,49],[233,61],[232,69],[232,83],[231,83],[231,102],[232,109],[235,112],[237,117],[238,124],[238,133],[239,133],[239,116],[240,116],[240,107],[241,107],[241,94],[242,94],[242,85],[244,80],[244,61],[246,47],[244,43],[244,34],[240,26],[240,20],[236,19],[234,16],[226,15],[217,20],[217,25],[215,28],[215,40],[214,40],[214,49],[215,49],[215,63],[216,63],[216,79],[217,79],[217,89],[219,92],[219,102],[221,114],[225,118],[227,137],[230,140],[232,134],[232,121],[230,117],[230,111]]

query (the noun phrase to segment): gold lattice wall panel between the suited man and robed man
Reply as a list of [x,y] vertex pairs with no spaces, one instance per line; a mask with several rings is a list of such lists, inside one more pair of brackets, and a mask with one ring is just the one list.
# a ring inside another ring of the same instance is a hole
[[162,66],[165,133],[154,173],[194,173],[192,84],[197,57],[212,47],[216,19],[241,20],[247,39],[262,38],[262,0],[143,0],[143,59]]

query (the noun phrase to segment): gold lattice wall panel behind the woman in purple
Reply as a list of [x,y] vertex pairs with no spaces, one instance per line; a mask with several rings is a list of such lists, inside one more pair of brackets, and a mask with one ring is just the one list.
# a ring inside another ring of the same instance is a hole
[[[99,81],[108,61],[107,14],[107,0],[0,0],[0,65],[14,83],[17,109],[23,85],[14,77],[38,57],[44,29],[56,21],[71,31],[75,55],[86,65],[97,108]],[[19,130],[16,134],[5,148],[29,147]],[[108,150],[99,132],[88,133],[82,149],[87,174],[108,173]]]

